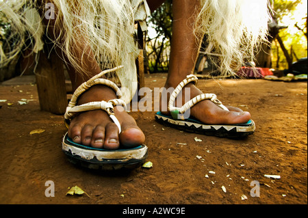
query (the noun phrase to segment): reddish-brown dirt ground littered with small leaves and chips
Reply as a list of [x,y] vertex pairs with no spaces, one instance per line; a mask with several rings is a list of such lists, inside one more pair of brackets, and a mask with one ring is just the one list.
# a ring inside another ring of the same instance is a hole
[[[146,75],[145,85],[165,79]],[[197,135],[158,124],[155,111],[131,112],[153,167],[95,172],[67,161],[63,116],[40,111],[36,85],[0,85],[0,204],[307,204],[307,81],[203,79],[198,87],[250,111],[255,133]],[[36,129],[44,132],[29,134]],[[45,196],[50,180],[55,197]],[[74,186],[88,195],[66,195]]]

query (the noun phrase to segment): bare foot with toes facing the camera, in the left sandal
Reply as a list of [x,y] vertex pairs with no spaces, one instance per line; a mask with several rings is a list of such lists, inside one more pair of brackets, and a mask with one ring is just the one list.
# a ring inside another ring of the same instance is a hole
[[[116,94],[110,87],[95,85],[79,97],[78,105],[114,98]],[[142,144],[144,134],[131,115],[120,106],[114,107],[114,113],[122,128],[120,134],[106,111],[95,110],[80,113],[73,118],[68,128],[68,137],[77,144],[93,148],[118,149],[120,145],[132,148]]]

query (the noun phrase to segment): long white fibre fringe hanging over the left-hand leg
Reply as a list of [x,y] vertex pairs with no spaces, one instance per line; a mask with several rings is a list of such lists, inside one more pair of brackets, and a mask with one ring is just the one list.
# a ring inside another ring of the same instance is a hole
[[70,64],[79,72],[86,73],[82,60],[75,58],[73,53],[76,52],[76,48],[85,49],[77,52],[87,53],[88,46],[78,46],[84,44],[90,45],[102,70],[125,66],[123,70],[118,70],[117,76],[121,87],[129,90],[123,92],[123,100],[126,103],[130,102],[137,90],[135,59],[138,56],[138,47],[133,34],[136,33],[134,16],[140,2],[140,0],[53,0],[58,10],[55,26],[62,27],[60,34],[57,33],[60,37],[58,46],[62,48]]

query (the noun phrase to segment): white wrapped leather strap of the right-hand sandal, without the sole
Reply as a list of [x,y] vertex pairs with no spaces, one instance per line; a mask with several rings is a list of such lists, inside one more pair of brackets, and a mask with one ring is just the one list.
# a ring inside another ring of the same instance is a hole
[[168,110],[169,111],[179,111],[179,113],[185,113],[185,111],[187,111],[188,109],[190,109],[191,107],[196,105],[196,103],[201,102],[201,100],[211,100],[213,103],[215,103],[221,109],[229,111],[229,109],[227,109],[227,107],[222,105],[220,100],[217,99],[216,94],[200,94],[200,95],[192,98],[191,100],[189,100],[182,107],[175,107],[174,106],[175,99],[177,98],[177,96],[179,95],[181,90],[183,90],[183,87],[185,87],[185,85],[187,85],[188,83],[192,83],[192,82],[194,82],[196,84],[198,82],[198,78],[195,75],[190,74],[185,79],[183,79],[183,81],[181,81],[181,83],[179,83],[179,85],[177,85],[177,87],[172,92],[170,99],[169,99],[169,103],[168,103]]

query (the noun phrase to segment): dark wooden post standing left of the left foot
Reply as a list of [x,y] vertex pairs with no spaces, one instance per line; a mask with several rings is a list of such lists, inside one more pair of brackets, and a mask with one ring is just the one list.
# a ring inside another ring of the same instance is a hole
[[68,104],[64,77],[63,61],[53,49],[48,53],[40,52],[36,68],[36,85],[40,109],[55,114],[65,113]]

